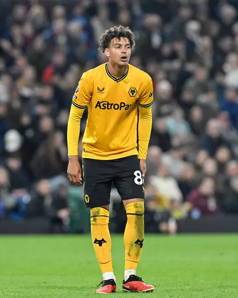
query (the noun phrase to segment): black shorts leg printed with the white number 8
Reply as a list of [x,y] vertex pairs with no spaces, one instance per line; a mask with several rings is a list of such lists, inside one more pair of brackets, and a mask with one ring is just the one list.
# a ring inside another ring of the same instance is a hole
[[144,179],[137,155],[117,159],[113,183],[122,200],[144,199]]

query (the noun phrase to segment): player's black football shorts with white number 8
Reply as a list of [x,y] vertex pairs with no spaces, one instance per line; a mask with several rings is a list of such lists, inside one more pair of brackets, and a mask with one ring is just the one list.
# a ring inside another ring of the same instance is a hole
[[122,200],[144,199],[144,180],[137,155],[112,160],[83,158],[86,207],[110,204],[112,182]]

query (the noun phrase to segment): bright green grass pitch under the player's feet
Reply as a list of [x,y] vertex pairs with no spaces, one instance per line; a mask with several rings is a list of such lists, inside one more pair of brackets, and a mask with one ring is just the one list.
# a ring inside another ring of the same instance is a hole
[[[113,297],[238,298],[238,235],[146,235],[137,274],[153,293],[122,293],[124,244],[112,236]],[[0,236],[0,298],[95,297],[90,235]]]

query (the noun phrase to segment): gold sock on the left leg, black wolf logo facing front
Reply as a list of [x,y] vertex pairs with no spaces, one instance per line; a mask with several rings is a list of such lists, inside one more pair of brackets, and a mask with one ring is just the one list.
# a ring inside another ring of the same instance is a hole
[[92,243],[101,272],[112,272],[111,237],[109,233],[109,211],[92,208],[90,211]]

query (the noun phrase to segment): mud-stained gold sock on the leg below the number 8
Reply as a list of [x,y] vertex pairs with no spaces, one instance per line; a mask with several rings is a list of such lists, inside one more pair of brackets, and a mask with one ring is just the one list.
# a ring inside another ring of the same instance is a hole
[[124,233],[125,270],[137,268],[144,242],[144,201],[126,206],[127,224]]

